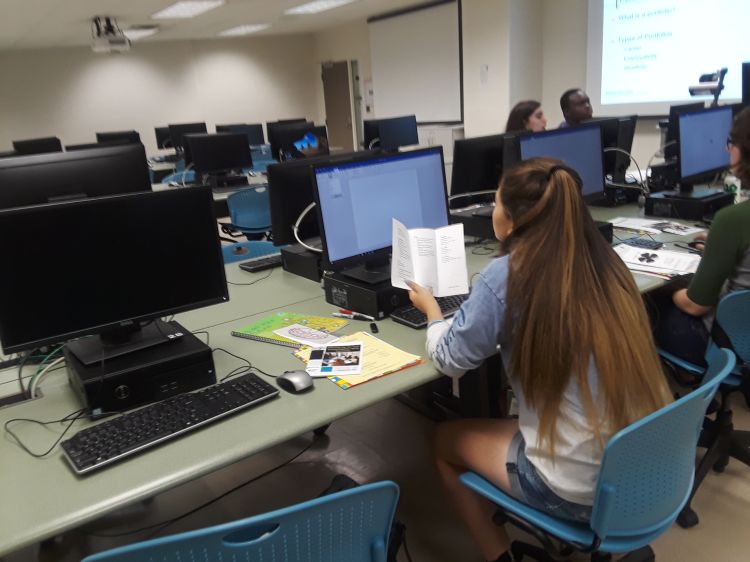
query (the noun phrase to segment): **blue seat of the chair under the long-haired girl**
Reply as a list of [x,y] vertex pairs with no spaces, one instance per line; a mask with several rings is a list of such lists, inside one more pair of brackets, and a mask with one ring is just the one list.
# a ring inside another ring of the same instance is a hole
[[[520,519],[527,521],[533,527],[541,529],[549,535],[566,542],[580,544],[583,547],[594,542],[595,535],[588,523],[557,519],[543,511],[534,509],[533,507],[509,496],[494,484],[474,472],[466,472],[462,474],[460,480],[466,487],[471,488],[478,494],[484,496],[492,503],[500,506],[506,512],[517,515]],[[661,536],[672,525],[673,521],[673,519],[670,519],[668,524],[646,534],[628,535],[627,537],[608,536],[599,545],[599,550],[615,554],[630,552],[631,550],[649,544],[651,541]]]

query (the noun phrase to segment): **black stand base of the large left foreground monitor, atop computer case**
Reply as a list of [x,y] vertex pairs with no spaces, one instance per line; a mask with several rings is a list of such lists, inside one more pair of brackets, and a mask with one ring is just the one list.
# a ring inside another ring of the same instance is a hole
[[66,344],[66,348],[84,365],[104,363],[134,351],[168,343],[181,338],[184,333],[173,325],[154,320],[138,327],[128,326],[98,336],[81,338]]

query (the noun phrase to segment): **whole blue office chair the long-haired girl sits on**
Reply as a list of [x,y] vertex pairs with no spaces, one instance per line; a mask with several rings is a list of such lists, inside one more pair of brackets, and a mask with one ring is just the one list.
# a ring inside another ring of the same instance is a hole
[[[698,434],[716,389],[734,367],[731,351],[716,349],[703,384],[615,434],[604,449],[589,523],[558,519],[507,495],[474,472],[461,482],[499,506],[500,521],[535,535],[546,548],[514,542],[516,561],[525,555],[554,560],[547,552],[590,552],[592,561],[610,553],[620,561],[650,561],[648,546],[672,526],[690,497]],[[497,518],[496,518],[497,520]]]

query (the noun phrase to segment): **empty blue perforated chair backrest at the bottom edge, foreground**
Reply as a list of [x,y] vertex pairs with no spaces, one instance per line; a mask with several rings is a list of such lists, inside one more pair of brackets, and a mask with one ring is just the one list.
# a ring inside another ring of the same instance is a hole
[[115,548],[83,562],[385,562],[397,501],[394,482],[375,482],[241,521]]

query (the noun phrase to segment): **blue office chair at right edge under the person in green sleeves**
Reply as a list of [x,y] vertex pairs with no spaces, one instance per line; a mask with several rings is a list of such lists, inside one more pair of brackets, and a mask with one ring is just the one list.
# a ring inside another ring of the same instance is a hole
[[[706,418],[703,423],[698,446],[705,447],[706,453],[698,462],[690,500],[677,518],[677,523],[683,528],[698,524],[698,515],[690,504],[711,468],[716,472],[723,472],[729,464],[730,457],[750,466],[750,431],[734,429],[729,404],[730,395],[739,391],[744,394],[745,401],[750,405],[750,291],[729,293],[719,301],[706,355],[713,353],[718,346],[732,349],[737,364],[719,389],[719,409],[716,417]],[[658,351],[668,364],[694,375],[703,375],[703,367],[688,363],[664,350]]]

